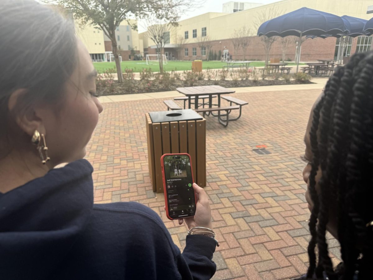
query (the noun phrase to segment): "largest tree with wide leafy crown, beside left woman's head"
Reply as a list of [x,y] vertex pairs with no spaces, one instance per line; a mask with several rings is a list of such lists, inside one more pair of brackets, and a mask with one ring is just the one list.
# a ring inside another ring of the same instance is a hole
[[[82,24],[92,24],[104,31],[112,41],[113,55],[118,74],[118,81],[122,82],[119,50],[115,36],[115,29],[120,22],[130,17],[148,18],[154,15],[159,19],[177,25],[180,15],[186,10],[201,6],[201,1],[189,0],[40,0],[47,4],[58,4],[65,7],[75,19]],[[131,25],[131,24],[130,24]],[[132,25],[137,29],[137,26]]]

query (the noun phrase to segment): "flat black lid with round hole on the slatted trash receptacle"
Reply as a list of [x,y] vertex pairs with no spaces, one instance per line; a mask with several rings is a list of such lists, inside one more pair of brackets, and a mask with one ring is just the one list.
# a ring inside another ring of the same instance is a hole
[[149,112],[151,122],[196,121],[203,117],[192,109]]

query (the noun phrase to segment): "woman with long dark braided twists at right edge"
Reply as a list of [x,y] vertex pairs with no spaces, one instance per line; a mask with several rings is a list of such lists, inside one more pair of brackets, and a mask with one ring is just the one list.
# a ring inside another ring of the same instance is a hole
[[[373,53],[358,53],[336,69],[311,111],[303,171],[311,210],[310,265],[301,279],[373,277],[372,94]],[[336,270],[326,230],[341,245],[343,263]]]

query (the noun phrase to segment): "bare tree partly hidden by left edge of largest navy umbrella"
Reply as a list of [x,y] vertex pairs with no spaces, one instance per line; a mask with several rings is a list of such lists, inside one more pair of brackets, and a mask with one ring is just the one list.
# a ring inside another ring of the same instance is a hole
[[[264,22],[269,21],[270,19],[276,18],[283,14],[282,11],[278,9],[278,7],[270,7],[265,10],[262,10],[261,12],[258,12],[256,19],[254,21],[254,27],[256,30],[259,29],[260,25],[262,25]],[[264,46],[264,51],[266,53],[265,56],[265,65],[268,65],[268,60],[269,60],[269,52],[272,48],[273,43],[277,40],[278,36],[272,36],[272,37],[267,37],[265,35],[262,35],[261,37],[261,42]]]

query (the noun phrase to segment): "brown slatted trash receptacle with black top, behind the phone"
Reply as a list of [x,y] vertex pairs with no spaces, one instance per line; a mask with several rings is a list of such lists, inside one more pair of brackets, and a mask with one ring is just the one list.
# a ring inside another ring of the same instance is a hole
[[153,191],[163,192],[160,158],[165,153],[188,153],[195,182],[206,186],[206,119],[191,109],[145,114],[149,174]]

